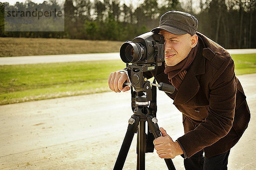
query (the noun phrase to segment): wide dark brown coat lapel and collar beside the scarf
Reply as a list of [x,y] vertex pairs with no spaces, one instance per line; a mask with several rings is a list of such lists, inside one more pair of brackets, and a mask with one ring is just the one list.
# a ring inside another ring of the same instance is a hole
[[173,102],[175,105],[184,104],[196,95],[200,89],[200,84],[196,76],[205,73],[206,55],[215,55],[209,48],[205,48],[204,41],[199,36],[198,43],[199,48],[195,59],[175,95]]

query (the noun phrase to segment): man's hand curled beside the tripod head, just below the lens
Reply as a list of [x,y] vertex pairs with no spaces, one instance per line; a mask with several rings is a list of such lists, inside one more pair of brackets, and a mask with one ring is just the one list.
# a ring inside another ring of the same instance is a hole
[[108,86],[113,92],[125,92],[130,89],[130,86],[122,87],[126,80],[130,83],[128,75],[125,72],[111,72],[108,77]]

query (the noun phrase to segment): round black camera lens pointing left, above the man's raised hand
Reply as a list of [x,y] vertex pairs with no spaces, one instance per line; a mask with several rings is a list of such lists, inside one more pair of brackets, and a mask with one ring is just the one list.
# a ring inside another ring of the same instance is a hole
[[125,42],[120,48],[120,57],[125,63],[142,61],[145,58],[145,47],[141,43]]

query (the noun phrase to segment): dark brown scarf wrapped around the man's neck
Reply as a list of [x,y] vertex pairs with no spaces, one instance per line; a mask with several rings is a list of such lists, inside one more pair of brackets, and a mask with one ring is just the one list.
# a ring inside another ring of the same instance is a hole
[[194,60],[197,51],[198,43],[194,48],[190,50],[188,56],[185,59],[183,59],[183,61],[180,61],[180,63],[177,63],[175,66],[167,66],[165,64],[164,72],[168,75],[169,81],[172,83],[173,86],[175,86],[175,89],[179,89],[180,84],[187,73],[186,69]]

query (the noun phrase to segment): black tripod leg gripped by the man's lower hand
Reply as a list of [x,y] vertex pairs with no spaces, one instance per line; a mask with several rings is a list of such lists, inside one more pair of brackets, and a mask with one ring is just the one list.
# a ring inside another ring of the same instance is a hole
[[[148,115],[147,116],[147,121],[148,121],[148,126],[149,126],[149,130],[151,131],[151,133],[153,133],[155,138],[158,138],[161,135],[161,131],[159,130],[158,124],[157,124],[157,118],[154,118],[153,115]],[[166,162],[166,165],[168,167],[168,170],[175,170],[175,166],[172,162],[172,159],[168,158],[168,159],[164,159],[164,161]]]

